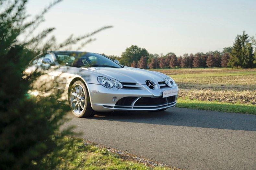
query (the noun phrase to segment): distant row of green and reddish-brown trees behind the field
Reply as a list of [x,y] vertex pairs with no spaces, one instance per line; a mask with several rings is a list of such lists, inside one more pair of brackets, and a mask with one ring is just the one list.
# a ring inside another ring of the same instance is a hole
[[[254,49],[254,50],[253,50]],[[254,52],[254,53],[253,53]],[[105,55],[105,54],[103,54]],[[120,64],[142,69],[165,68],[198,68],[198,67],[240,67],[253,68],[256,66],[256,38],[249,37],[243,31],[237,35],[232,47],[223,48],[222,52],[183,54],[176,56],[170,52],[166,55],[150,54],[145,48],[132,45],[125,49],[121,57],[105,55],[112,60],[119,60]]]

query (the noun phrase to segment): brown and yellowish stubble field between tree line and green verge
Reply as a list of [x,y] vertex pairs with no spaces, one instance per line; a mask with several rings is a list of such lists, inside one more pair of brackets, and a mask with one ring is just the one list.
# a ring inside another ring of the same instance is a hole
[[182,99],[256,104],[256,69],[154,70],[171,76]]

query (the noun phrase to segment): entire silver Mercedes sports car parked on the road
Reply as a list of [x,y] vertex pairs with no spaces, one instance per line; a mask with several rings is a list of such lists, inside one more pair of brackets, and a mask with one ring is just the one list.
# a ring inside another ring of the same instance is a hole
[[31,62],[27,73],[39,72],[34,92],[60,94],[77,117],[96,112],[163,111],[177,103],[179,88],[162,73],[120,65],[88,52],[51,51]]

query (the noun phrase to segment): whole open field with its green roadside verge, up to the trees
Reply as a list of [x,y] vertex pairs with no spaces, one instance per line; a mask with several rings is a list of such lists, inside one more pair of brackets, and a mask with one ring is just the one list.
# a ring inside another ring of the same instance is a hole
[[155,70],[179,86],[178,107],[256,115],[256,69]]

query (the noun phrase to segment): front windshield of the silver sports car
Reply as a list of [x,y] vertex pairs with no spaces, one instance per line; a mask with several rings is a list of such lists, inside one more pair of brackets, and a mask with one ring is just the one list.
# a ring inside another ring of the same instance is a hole
[[86,52],[58,52],[54,54],[61,65],[121,68],[119,64],[100,54]]

